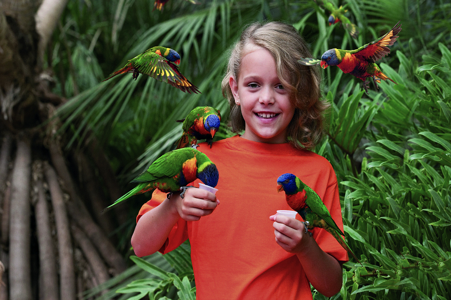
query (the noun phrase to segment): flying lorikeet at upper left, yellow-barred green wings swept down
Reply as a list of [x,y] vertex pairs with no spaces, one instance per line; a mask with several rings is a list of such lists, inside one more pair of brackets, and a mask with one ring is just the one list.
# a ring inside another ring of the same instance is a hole
[[152,47],[142,54],[129,60],[121,69],[115,71],[106,81],[116,75],[123,73],[133,73],[133,79],[138,78],[139,73],[147,74],[159,81],[166,79],[166,82],[182,91],[198,93],[197,86],[193,85],[178,70],[175,64],[180,63],[180,55],[173,49],[166,47]]

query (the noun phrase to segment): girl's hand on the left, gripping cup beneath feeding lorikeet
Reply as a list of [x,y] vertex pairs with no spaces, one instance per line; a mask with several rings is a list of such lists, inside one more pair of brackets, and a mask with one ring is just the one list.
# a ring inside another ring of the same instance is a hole
[[212,213],[219,205],[215,194],[200,188],[186,189],[184,198],[180,197],[179,192],[173,192],[169,201],[185,221],[197,221],[201,216]]

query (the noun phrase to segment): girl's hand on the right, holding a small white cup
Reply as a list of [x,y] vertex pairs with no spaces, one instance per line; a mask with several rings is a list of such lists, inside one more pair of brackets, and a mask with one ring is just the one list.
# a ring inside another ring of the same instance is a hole
[[274,221],[276,242],[287,252],[302,253],[314,241],[300,220],[285,215],[271,215],[270,220]]

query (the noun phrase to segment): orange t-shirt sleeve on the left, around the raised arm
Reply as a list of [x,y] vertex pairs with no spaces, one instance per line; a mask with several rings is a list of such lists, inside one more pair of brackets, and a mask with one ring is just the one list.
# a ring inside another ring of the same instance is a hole
[[[155,189],[152,193],[152,198],[144,203],[144,205],[141,206],[141,209],[139,209],[138,215],[136,216],[136,222],[139,221],[144,213],[161,204],[161,202],[166,199],[166,196],[167,193],[162,192],[159,189]],[[170,252],[183,243],[187,238],[187,223],[182,218],[179,218],[174,227],[172,227],[171,232],[169,233],[163,246],[161,246],[158,251],[163,254]]]

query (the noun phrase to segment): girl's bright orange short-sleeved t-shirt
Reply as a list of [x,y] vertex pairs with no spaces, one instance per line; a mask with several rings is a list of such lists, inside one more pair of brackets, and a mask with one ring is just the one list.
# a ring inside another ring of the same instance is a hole
[[[167,253],[189,238],[199,300],[312,299],[302,264],[276,243],[269,216],[278,209],[291,209],[276,185],[280,175],[293,173],[318,193],[343,229],[337,178],[329,161],[289,143],[260,143],[239,135],[214,142],[211,149],[201,143],[198,150],[217,166],[216,197],[221,203],[198,221],[180,218],[160,251]],[[137,221],[165,197],[156,190]],[[299,214],[297,218],[302,220]],[[326,230],[314,228],[313,237],[326,253],[348,260],[347,252]]]

